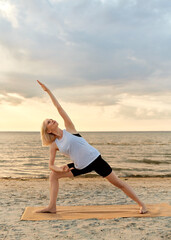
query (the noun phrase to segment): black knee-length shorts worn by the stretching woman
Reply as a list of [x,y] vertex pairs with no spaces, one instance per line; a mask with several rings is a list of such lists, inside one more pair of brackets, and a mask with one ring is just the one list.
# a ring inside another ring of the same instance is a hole
[[69,163],[68,167],[74,168],[71,170],[74,177],[85,174],[85,173],[89,173],[92,171],[95,171],[102,177],[107,177],[112,172],[112,168],[109,166],[109,164],[105,160],[102,159],[101,155],[99,155],[92,163],[90,163],[87,167],[83,169],[75,168],[74,163]]

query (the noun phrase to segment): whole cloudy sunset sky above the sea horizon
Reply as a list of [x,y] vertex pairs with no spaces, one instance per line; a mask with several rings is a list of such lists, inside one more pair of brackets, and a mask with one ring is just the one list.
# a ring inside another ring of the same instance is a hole
[[170,0],[0,0],[0,131],[171,131]]

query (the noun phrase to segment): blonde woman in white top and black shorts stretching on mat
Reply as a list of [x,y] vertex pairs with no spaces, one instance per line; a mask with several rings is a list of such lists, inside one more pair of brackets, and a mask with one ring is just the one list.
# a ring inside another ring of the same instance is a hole
[[[58,123],[53,119],[46,119],[42,124],[41,137],[43,145],[50,145],[49,168],[50,174],[50,203],[48,207],[38,211],[43,213],[56,212],[56,199],[58,195],[60,178],[75,177],[91,171],[96,171],[106,178],[114,186],[120,188],[127,196],[132,198],[140,207],[140,213],[146,213],[145,204],[137,197],[128,184],[121,181],[109,164],[104,161],[97,149],[89,145],[84,138],[76,131],[71,119],[61,107],[52,92],[40,81],[37,80],[42,89],[48,93],[58,113],[64,120],[65,128],[60,129]],[[73,163],[65,166],[55,166],[56,151],[68,155]]]

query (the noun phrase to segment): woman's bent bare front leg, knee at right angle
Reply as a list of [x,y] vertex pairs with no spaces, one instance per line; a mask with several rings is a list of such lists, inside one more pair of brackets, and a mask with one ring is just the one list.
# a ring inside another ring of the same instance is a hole
[[56,199],[58,196],[58,190],[59,190],[59,178],[64,177],[73,177],[72,172],[67,173],[56,173],[51,172],[50,174],[50,202],[48,207],[36,211],[37,213],[56,213]]

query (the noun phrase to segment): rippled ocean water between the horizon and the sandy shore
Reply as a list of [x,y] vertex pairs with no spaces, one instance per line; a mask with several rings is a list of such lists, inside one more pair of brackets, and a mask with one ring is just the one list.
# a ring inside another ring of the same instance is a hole
[[[82,132],[119,177],[171,177],[171,132]],[[47,178],[39,132],[0,132],[0,178]],[[56,165],[71,162],[59,152]],[[86,176],[86,175],[85,175]],[[97,176],[92,172],[91,177]]]

